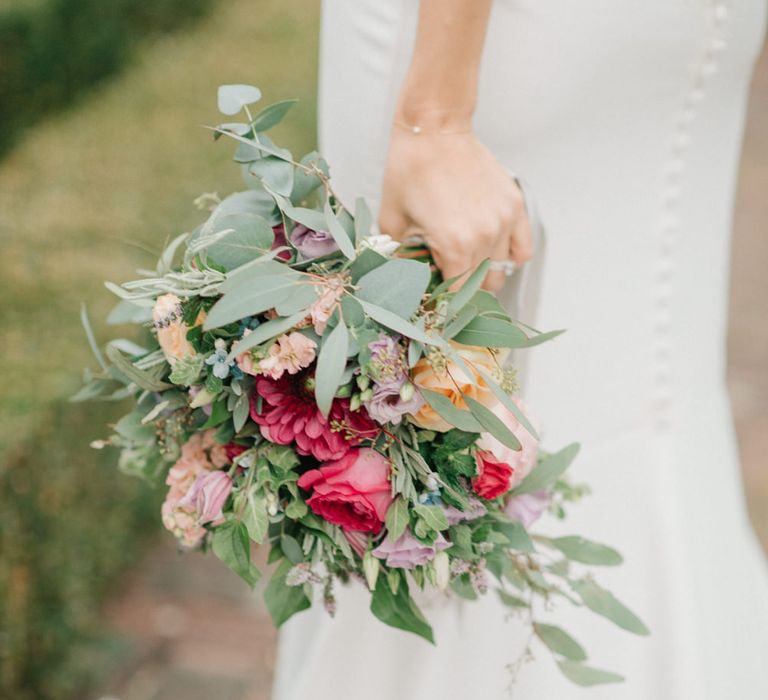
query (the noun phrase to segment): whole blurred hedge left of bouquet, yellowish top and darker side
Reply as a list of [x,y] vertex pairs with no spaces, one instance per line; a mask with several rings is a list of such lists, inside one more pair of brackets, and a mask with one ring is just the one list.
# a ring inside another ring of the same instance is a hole
[[201,192],[241,187],[232,146],[200,128],[222,120],[219,84],[300,98],[275,138],[314,147],[318,11],[217,2],[193,27],[145,39],[122,75],[0,161],[0,697],[77,697],[108,668],[100,601],[159,525],[156,497],[88,447],[119,407],[66,401],[94,365],[80,303],[107,339],[102,281],[152,265],[199,222]]

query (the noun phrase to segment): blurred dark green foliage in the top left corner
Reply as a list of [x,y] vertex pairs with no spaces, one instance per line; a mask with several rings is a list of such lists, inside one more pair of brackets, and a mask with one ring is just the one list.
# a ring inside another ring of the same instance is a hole
[[147,34],[212,0],[38,0],[0,9],[0,153],[18,131],[117,72]]

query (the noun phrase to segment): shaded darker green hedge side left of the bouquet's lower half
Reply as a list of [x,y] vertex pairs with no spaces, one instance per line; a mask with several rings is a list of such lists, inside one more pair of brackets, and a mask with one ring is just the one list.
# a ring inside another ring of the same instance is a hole
[[113,661],[98,601],[158,529],[160,507],[159,493],[114,468],[114,451],[88,448],[116,415],[104,404],[52,404],[5,455],[0,697],[79,697]]

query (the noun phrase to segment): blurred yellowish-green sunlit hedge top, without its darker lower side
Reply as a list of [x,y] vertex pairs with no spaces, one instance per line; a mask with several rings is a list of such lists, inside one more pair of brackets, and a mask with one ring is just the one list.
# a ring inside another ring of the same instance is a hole
[[276,138],[295,152],[314,146],[317,5],[220,3],[0,163],[0,458],[93,364],[80,302],[98,329],[113,302],[103,279],[153,263],[166,238],[199,222],[201,192],[241,188],[232,146],[199,128],[222,119],[220,83],[259,85],[268,101],[299,97]]

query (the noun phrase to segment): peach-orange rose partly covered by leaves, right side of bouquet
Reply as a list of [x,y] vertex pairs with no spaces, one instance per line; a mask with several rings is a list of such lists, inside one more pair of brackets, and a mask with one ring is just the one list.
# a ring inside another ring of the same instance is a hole
[[[413,368],[413,383],[419,388],[447,396],[456,408],[467,409],[463,395],[479,401],[488,408],[495,406],[496,396],[477,370],[493,374],[498,364],[501,364],[501,358],[498,359],[497,364],[493,354],[487,348],[454,342],[451,342],[451,345],[464,360],[472,377],[467,377],[464,370],[450,359],[446,363],[445,370],[437,371],[432,367],[429,359],[423,357]],[[413,421],[426,430],[437,430],[441,433],[453,427],[443,420],[428,403],[413,416]]]

